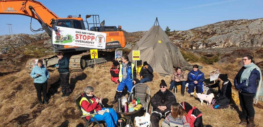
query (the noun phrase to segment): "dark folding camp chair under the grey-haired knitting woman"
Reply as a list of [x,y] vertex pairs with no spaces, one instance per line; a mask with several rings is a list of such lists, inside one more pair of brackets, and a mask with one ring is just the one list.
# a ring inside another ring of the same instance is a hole
[[[77,105],[80,113],[82,114],[81,107],[80,107],[80,104],[79,104],[81,98],[82,98],[82,97],[81,97],[81,93],[79,93],[79,94],[74,98],[74,101],[75,101],[75,103],[76,103],[76,105]],[[95,115],[95,114],[98,114],[98,113],[93,113],[93,114],[81,116],[81,118],[84,118],[84,120],[86,121],[85,127],[87,127],[88,125],[90,125],[90,124],[92,124],[92,123],[98,124],[99,127],[102,127],[102,126],[100,125],[100,123],[102,123],[102,124],[104,125],[104,123],[105,123],[104,120],[99,120],[99,121],[98,121],[98,120],[96,120],[96,119],[92,116],[92,115]],[[89,118],[88,120],[85,118],[85,117],[87,117],[87,116],[90,116],[90,118]],[[90,121],[91,118],[93,118],[94,121]],[[104,125],[104,126],[105,126],[105,125]]]

